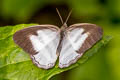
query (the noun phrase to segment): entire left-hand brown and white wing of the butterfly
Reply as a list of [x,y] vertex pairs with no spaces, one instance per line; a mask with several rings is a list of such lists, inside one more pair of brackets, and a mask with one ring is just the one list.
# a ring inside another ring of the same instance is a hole
[[17,31],[13,39],[40,68],[52,68],[57,60],[60,41],[59,28],[54,25],[38,25]]

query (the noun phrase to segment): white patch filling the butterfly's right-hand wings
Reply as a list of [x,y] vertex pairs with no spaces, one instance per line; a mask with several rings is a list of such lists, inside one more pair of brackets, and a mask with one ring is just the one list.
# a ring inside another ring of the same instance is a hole
[[76,28],[72,31],[68,31],[67,35],[63,39],[62,49],[59,56],[59,67],[64,68],[75,63],[81,56],[78,51],[89,33],[84,33],[83,28]]

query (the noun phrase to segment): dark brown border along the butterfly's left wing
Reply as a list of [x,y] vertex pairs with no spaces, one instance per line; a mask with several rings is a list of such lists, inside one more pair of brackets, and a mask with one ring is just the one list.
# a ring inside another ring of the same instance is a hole
[[13,35],[13,40],[24,51],[31,55],[34,55],[37,52],[33,49],[32,43],[29,40],[29,36],[37,35],[36,31],[41,29],[51,29],[53,31],[60,30],[57,26],[54,25],[35,25],[15,32],[15,34]]

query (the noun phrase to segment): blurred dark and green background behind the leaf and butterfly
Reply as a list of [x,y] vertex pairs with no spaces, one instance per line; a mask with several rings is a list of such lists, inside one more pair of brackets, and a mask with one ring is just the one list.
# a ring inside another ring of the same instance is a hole
[[60,27],[55,8],[64,20],[73,9],[68,25],[97,24],[113,39],[85,64],[51,80],[120,80],[120,0],[0,0],[0,26],[38,23]]

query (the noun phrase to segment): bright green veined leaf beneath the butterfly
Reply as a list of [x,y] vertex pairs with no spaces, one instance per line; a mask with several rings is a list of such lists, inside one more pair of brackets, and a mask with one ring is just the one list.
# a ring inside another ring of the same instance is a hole
[[20,24],[0,27],[0,79],[2,80],[48,80],[52,76],[70,70],[85,63],[101,47],[107,44],[111,36],[104,36],[96,45],[89,49],[75,64],[68,68],[44,70],[36,67],[29,55],[13,42],[13,34],[20,29],[36,24]]

